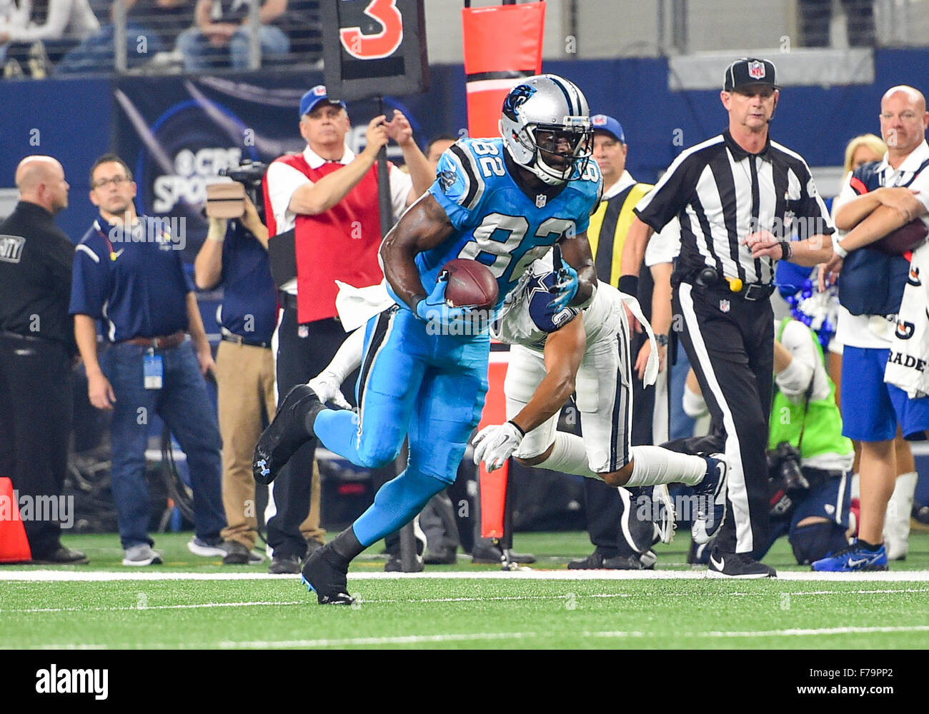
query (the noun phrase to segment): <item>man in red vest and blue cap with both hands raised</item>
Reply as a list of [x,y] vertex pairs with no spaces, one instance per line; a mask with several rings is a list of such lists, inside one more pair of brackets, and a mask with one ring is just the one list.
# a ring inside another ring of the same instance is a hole
[[[381,216],[378,208],[377,153],[393,139],[410,169],[390,165],[392,220],[429,188],[435,175],[412,138],[406,117],[394,110],[387,122],[368,123],[367,146],[355,154],[346,145],[350,128],[346,104],[330,99],[318,85],[300,100],[300,136],[307,148],[272,162],[265,176],[269,251],[274,265],[288,253],[294,277],[281,287],[283,316],[278,326],[278,395],[306,383],[334,357],[346,333],[336,317],[335,280],[355,287],[379,283]],[[285,247],[286,246],[286,247]],[[290,248],[293,246],[293,249]],[[289,253],[293,253],[293,256]],[[276,271],[276,278],[280,271]],[[299,573],[307,555],[300,525],[307,517],[315,439],[304,445],[281,472],[271,490],[268,544],[271,573]],[[321,531],[307,534],[317,545]]]

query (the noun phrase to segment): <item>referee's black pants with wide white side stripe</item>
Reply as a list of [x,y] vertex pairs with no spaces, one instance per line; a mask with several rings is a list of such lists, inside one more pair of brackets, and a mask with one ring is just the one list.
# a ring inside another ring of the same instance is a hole
[[769,300],[747,301],[720,288],[674,286],[680,338],[700,389],[726,434],[728,513],[716,537],[723,552],[755,557],[769,539],[768,418],[774,375],[774,315]]

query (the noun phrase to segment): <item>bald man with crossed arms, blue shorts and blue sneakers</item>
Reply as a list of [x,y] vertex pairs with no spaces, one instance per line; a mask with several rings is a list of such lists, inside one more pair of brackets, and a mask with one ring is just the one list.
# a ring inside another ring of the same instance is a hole
[[929,225],[929,146],[925,97],[900,85],[881,99],[881,132],[887,154],[858,167],[835,200],[834,255],[820,275],[839,284],[836,338],[844,344],[843,434],[861,441],[861,521],[858,539],[844,552],[813,564],[814,570],[886,570],[882,543],[887,503],[894,492],[894,435],[899,422],[907,438],[929,429],[929,397],[909,398],[883,372],[896,329],[909,258],[865,248],[914,218]]

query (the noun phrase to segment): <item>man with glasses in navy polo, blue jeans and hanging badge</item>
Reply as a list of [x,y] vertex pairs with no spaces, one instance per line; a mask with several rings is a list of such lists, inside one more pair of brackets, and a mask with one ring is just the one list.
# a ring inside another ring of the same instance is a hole
[[[77,246],[71,308],[74,336],[98,409],[112,409],[112,492],[123,565],[161,563],[148,534],[145,449],[157,413],[190,464],[198,555],[224,556],[219,429],[203,374],[215,369],[210,344],[177,242],[157,219],[138,216],[136,183],[126,163],[101,156],[90,169],[90,201],[99,216]],[[97,321],[111,343],[98,360]],[[191,340],[186,339],[190,332]]]

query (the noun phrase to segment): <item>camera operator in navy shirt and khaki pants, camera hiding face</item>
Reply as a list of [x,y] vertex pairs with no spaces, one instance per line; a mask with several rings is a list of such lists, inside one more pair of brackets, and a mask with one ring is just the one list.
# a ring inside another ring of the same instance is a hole
[[209,229],[194,262],[197,288],[221,285],[224,289],[217,318],[222,342],[216,350],[216,387],[223,439],[223,506],[229,523],[221,534],[227,565],[264,560],[252,551],[257,532],[252,452],[264,420],[274,414],[271,335],[277,324],[277,291],[268,263],[268,228],[248,197],[251,193],[257,198],[255,185],[260,187],[264,168],[263,164],[243,167],[229,172],[242,183],[207,188]]

